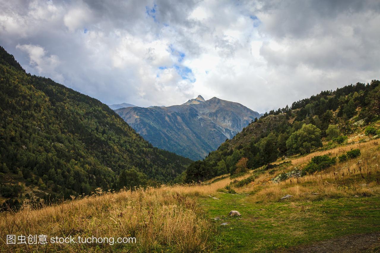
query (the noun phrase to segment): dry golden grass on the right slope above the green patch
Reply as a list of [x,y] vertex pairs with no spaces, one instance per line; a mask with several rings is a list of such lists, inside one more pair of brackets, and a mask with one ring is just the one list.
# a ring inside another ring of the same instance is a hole
[[[292,199],[314,200],[320,198],[340,198],[357,196],[373,196],[380,194],[380,155],[377,141],[340,147],[326,152],[315,152],[306,157],[292,160],[292,164],[306,163],[316,155],[340,155],[350,149],[360,148],[362,155],[356,159],[337,163],[330,168],[304,177],[290,178],[279,183],[270,181],[274,175],[268,172],[260,175],[255,182],[236,192],[254,193],[254,201],[278,201],[286,194]],[[287,171],[294,166],[287,168]],[[277,172],[279,174],[279,172]]]

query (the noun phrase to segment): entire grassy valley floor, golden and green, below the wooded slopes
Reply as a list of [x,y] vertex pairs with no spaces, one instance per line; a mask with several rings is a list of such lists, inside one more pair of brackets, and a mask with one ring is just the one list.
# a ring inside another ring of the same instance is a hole
[[[136,237],[135,244],[126,245],[37,247],[54,251],[331,251],[345,243],[345,250],[378,252],[380,242],[371,238],[378,238],[380,231],[379,147],[378,139],[362,138],[285,163],[280,158],[271,170],[222,175],[200,185],[100,191],[37,210],[25,206],[1,214],[0,233],[2,238],[10,232]],[[355,159],[312,175],[271,181],[304,168],[317,155],[339,156],[356,148],[361,155]],[[291,197],[282,199],[287,194]],[[241,216],[229,217],[231,210]],[[14,249],[18,247],[27,250]]]

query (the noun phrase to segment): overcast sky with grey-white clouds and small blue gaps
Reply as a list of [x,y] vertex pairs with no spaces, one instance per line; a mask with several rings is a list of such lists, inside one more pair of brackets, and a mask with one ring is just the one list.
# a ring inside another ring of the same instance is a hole
[[106,104],[258,112],[379,79],[380,1],[0,0],[0,44]]

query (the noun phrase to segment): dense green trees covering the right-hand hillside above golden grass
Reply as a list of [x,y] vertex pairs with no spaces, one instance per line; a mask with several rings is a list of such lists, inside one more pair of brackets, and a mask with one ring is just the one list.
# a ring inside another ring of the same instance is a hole
[[[379,119],[379,84],[377,80],[351,84],[296,101],[291,107],[266,112],[203,161],[191,164],[186,181],[205,180],[226,172],[237,174],[241,161],[253,169],[268,166],[278,156],[309,153],[322,146],[323,137],[339,144],[344,142],[347,136],[342,134],[350,133],[351,118],[367,123]],[[377,131],[380,132],[367,132]]]

